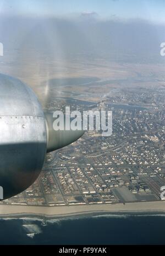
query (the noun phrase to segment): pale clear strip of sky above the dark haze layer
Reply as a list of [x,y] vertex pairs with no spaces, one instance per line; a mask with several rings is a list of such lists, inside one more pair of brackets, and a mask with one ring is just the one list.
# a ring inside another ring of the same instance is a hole
[[[0,13],[74,17],[96,15],[100,19],[147,19],[165,23],[164,0],[1,0]],[[96,13],[96,14],[95,14]]]

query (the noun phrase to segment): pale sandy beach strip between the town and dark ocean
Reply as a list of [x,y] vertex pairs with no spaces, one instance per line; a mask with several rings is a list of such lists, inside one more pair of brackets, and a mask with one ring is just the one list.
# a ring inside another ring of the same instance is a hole
[[165,215],[165,201],[74,206],[0,205],[0,218],[41,217],[47,219],[98,215]]

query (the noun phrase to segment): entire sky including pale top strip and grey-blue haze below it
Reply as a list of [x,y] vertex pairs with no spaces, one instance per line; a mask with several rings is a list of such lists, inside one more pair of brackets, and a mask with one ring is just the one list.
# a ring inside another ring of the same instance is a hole
[[162,61],[164,10],[165,0],[0,0],[0,42],[4,52],[33,49],[54,59]]

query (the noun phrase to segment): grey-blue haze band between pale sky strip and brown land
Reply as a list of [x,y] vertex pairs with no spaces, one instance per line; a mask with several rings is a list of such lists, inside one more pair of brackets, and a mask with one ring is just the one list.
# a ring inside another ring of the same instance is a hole
[[0,41],[4,50],[36,49],[41,54],[53,52],[65,58],[82,53],[97,57],[113,55],[116,61],[123,55],[133,55],[140,60],[154,54],[160,57],[164,29],[165,25],[140,19],[124,22],[86,17],[71,20],[1,16]]

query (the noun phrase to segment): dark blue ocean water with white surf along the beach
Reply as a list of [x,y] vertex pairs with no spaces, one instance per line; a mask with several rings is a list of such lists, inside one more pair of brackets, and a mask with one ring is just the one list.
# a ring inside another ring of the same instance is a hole
[[165,215],[3,218],[0,244],[165,244]]

